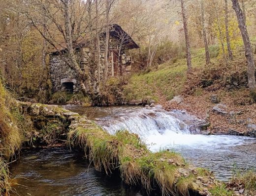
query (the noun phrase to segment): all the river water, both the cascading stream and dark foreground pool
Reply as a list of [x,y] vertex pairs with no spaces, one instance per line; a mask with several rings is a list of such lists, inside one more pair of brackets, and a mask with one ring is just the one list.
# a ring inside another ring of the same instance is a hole
[[[228,180],[232,171],[256,171],[255,139],[200,135],[201,121],[185,112],[133,106],[65,108],[86,114],[110,134],[122,129],[136,133],[152,151],[180,152],[194,166],[215,172],[220,180]],[[11,172],[20,196],[143,195],[141,190],[126,186],[118,175],[96,172],[80,152],[69,148],[25,150]]]

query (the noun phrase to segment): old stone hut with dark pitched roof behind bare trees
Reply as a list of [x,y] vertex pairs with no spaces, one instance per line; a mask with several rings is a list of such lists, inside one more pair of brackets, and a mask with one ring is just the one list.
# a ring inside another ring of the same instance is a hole
[[[130,49],[138,49],[139,46],[132,40],[119,25],[110,25],[108,48],[108,76],[121,76],[130,73],[131,57]],[[103,76],[105,69],[105,41],[106,35],[100,35],[100,75]],[[92,53],[86,43],[78,43],[75,47],[76,59],[84,72],[90,72],[92,66]],[[91,47],[92,48],[92,47]],[[96,46],[93,46],[96,50]],[[65,91],[75,93],[80,90],[77,81],[77,73],[69,68],[65,49],[50,53],[50,77],[53,84],[53,92]],[[95,63],[95,62],[94,62]],[[97,75],[97,71],[96,71]]]

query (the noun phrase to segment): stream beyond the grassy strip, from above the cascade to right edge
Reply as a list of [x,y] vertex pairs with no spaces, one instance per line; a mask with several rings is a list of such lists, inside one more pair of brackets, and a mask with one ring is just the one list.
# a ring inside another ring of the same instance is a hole
[[235,168],[239,173],[256,171],[256,139],[201,135],[198,127],[202,121],[184,111],[140,106],[69,105],[66,109],[86,114],[110,134],[122,129],[136,133],[152,151],[174,149],[195,167],[213,171],[219,180],[227,181]]

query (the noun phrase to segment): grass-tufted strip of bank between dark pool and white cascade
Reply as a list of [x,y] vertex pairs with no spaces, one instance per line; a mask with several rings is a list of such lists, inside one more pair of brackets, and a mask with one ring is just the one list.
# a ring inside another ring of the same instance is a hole
[[109,135],[84,117],[70,128],[70,144],[84,149],[96,170],[110,174],[118,168],[127,184],[142,185],[148,193],[159,188],[163,195],[202,194],[218,184],[210,172],[192,167],[176,152],[149,151],[136,134]]

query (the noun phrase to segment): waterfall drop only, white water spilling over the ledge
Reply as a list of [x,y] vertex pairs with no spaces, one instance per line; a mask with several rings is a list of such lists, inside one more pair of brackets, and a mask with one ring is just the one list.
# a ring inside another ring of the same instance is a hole
[[178,119],[178,112],[176,117],[174,114],[157,108],[130,108],[119,113],[118,117],[104,117],[99,123],[110,134],[119,130],[128,130],[142,137],[166,132],[190,134],[193,125]]

